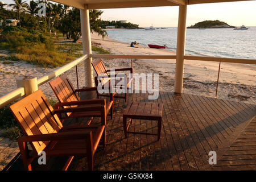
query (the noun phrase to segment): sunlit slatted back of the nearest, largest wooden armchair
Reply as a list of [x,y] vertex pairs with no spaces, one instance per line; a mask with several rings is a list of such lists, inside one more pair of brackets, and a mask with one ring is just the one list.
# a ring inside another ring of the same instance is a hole
[[[57,133],[63,126],[42,90],[30,94],[10,106],[11,111],[26,135]],[[31,142],[36,152],[43,151],[49,141]]]

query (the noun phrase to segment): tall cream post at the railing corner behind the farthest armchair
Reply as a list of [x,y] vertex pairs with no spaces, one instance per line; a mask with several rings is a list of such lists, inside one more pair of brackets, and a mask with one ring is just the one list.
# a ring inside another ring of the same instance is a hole
[[93,67],[92,67],[92,44],[90,42],[90,20],[87,5],[85,9],[80,9],[81,32],[82,32],[82,53],[88,55],[85,60],[85,86],[93,86]]

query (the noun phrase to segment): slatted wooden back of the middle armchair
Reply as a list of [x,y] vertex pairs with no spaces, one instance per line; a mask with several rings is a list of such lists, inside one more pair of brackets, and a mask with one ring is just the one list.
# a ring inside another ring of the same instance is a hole
[[[75,88],[73,87],[66,74],[63,74],[60,77],[50,81],[49,85],[51,86],[59,102],[72,102],[80,100],[79,95],[75,92]],[[65,108],[67,107],[76,106],[65,106]],[[70,114],[71,113],[67,113],[68,116]]]

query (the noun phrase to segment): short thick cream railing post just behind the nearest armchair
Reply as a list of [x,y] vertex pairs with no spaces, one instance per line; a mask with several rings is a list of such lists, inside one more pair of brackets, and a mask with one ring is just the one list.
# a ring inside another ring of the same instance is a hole
[[17,88],[24,87],[26,96],[38,90],[38,80],[36,77],[24,76],[23,78],[17,78],[16,84]]

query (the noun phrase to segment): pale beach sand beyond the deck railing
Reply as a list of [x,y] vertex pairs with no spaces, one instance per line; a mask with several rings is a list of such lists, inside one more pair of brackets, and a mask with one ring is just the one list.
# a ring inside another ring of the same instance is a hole
[[[66,40],[64,40],[66,41]],[[79,40],[81,43],[81,39]],[[108,37],[102,40],[96,33],[92,34],[92,43],[110,51],[114,55],[175,55],[175,52],[164,49],[152,49],[116,42]],[[138,47],[138,48],[137,48]],[[0,56],[9,56],[6,51],[0,51]],[[23,76],[42,77],[53,71],[52,68],[39,68],[23,61],[0,61],[0,97],[16,89],[16,78]],[[104,59],[106,68],[130,67],[130,59]],[[184,93],[215,97],[218,64],[209,61],[185,60]],[[175,60],[133,59],[134,73],[158,73],[159,90],[174,91]],[[56,69],[56,68],[55,68]],[[79,85],[85,85],[84,65],[79,64]],[[73,85],[76,84],[75,67],[67,71]],[[217,98],[256,104],[256,66],[246,64],[222,63]],[[47,98],[56,100],[49,84],[39,86]],[[3,131],[0,132],[0,134]],[[17,154],[18,145],[9,139],[0,137],[0,170]]]

